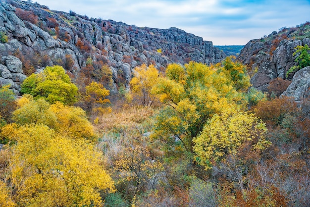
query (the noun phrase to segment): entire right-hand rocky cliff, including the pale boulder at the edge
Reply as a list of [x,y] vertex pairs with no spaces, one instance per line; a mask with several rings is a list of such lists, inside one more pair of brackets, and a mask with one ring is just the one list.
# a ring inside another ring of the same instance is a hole
[[[296,28],[283,28],[264,38],[251,40],[236,58],[256,73],[251,78],[253,87],[268,91],[269,83],[276,79],[292,80],[283,95],[293,96],[296,101],[309,99],[309,68],[286,77],[286,72],[297,63],[293,53],[297,46],[310,46],[310,23]],[[307,81],[308,80],[308,81]]]

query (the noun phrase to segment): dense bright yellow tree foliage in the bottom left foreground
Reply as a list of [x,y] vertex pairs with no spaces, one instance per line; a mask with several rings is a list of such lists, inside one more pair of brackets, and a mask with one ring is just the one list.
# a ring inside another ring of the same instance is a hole
[[101,154],[88,141],[57,135],[41,124],[9,134],[17,142],[9,168],[18,206],[101,206],[99,190],[114,191]]

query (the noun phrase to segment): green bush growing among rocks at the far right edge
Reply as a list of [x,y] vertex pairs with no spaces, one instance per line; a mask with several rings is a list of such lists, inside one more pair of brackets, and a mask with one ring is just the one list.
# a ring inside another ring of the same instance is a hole
[[286,72],[286,77],[292,72],[296,72],[304,67],[310,66],[310,48],[308,45],[305,46],[297,46],[296,51],[293,53],[295,58],[295,62],[297,62],[297,66],[291,67],[287,72]]

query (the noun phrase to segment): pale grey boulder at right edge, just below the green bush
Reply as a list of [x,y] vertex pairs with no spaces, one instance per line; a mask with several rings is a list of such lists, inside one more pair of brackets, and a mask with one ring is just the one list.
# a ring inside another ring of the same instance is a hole
[[292,83],[281,96],[294,97],[296,102],[310,99],[310,66],[295,73]]

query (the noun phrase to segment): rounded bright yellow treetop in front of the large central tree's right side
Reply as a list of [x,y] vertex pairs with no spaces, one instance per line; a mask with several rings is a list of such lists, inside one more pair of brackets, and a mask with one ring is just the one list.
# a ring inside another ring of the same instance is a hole
[[227,154],[236,155],[245,142],[257,140],[253,149],[263,150],[271,144],[264,139],[266,131],[257,117],[246,112],[228,109],[220,115],[214,114],[202,133],[193,139],[196,160],[207,170]]

